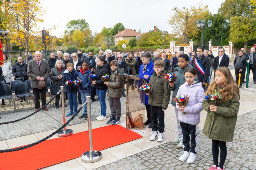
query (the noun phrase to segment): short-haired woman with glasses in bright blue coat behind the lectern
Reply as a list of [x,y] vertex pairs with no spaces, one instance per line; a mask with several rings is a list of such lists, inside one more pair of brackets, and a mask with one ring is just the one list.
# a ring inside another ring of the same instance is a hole
[[[140,54],[140,59],[142,60],[141,66],[140,66],[140,72],[139,77],[147,80],[147,83],[149,82],[150,77],[152,76],[154,72],[154,63],[150,60],[151,55],[150,52],[146,51]],[[140,60],[139,59],[139,60]],[[148,105],[148,96],[145,92],[140,92],[139,88],[143,84],[143,81],[139,81],[138,85],[138,92],[140,93],[140,102],[141,104],[144,104],[147,110],[147,117],[148,120],[145,122],[145,125],[148,125],[151,123],[151,113],[150,113],[150,106]],[[148,128],[151,128],[151,125],[148,126]]]

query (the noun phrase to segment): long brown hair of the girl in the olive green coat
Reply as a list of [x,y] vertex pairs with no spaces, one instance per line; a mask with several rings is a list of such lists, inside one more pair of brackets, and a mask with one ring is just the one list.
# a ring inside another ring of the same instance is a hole
[[[227,67],[220,67],[215,72],[220,71],[224,76],[226,77],[226,81],[224,83],[223,88],[220,90],[220,95],[222,96],[222,101],[228,101],[230,99],[233,99],[236,97],[236,92],[238,94],[238,97],[240,99],[240,93],[238,85],[235,83],[230,70]],[[208,94],[212,94],[215,92],[216,87],[218,85],[216,84],[215,80],[212,82],[212,84],[209,86],[207,91],[205,92],[205,96]]]

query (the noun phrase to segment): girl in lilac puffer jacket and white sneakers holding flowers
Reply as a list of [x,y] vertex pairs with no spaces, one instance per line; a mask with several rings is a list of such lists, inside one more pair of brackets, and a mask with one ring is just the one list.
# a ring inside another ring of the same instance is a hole
[[[184,145],[184,153],[180,156],[179,160],[187,160],[187,163],[192,164],[196,160],[198,148],[198,124],[200,122],[200,112],[203,110],[204,89],[201,82],[195,81],[196,69],[186,69],[184,76],[186,82],[180,86],[177,98],[178,96],[188,96],[189,100],[186,106],[178,106],[178,102],[176,105],[176,109],[179,110],[178,118],[183,135],[182,143]],[[180,100],[184,101],[183,98],[180,98]],[[189,147],[189,140],[191,141],[191,147]]]

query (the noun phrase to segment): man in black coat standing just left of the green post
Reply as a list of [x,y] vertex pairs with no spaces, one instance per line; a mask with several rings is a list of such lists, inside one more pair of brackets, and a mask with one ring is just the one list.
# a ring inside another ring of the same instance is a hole
[[244,51],[240,50],[234,60],[236,84],[238,84],[239,73],[241,73],[241,82],[240,82],[239,88],[242,88],[242,80],[244,79],[244,76],[245,76],[246,64],[247,64],[247,61],[246,61],[246,56],[244,56]]

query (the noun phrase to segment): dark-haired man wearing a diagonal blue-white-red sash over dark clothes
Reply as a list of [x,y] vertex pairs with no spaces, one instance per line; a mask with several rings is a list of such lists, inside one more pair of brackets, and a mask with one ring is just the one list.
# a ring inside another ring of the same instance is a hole
[[205,85],[209,84],[210,60],[204,56],[203,47],[196,48],[196,57],[192,61],[192,66],[196,69],[198,80],[202,83],[203,88],[205,89]]

